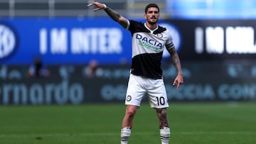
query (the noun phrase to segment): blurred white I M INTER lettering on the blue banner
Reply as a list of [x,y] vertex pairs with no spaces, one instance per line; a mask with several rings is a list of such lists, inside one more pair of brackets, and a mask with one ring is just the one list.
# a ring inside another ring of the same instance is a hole
[[[70,34],[70,35],[69,35]],[[68,43],[70,42],[70,43]],[[122,52],[122,31],[119,28],[46,28],[40,30],[40,52],[65,55],[113,54]]]

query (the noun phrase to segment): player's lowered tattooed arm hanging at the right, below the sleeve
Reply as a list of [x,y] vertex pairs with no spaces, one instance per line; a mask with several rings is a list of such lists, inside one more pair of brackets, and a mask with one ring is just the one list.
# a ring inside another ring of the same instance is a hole
[[175,48],[167,48],[168,52],[171,55],[171,61],[174,63],[174,67],[176,67],[177,70],[177,76],[174,79],[173,85],[177,85],[177,90],[179,89],[180,85],[183,84],[183,74],[181,70],[181,61],[178,57],[178,53],[176,52]]

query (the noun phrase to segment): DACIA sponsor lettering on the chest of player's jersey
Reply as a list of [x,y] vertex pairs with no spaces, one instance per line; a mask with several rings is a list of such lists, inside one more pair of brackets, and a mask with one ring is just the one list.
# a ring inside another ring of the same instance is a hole
[[136,35],[136,38],[139,40],[139,45],[142,45],[144,48],[154,50],[155,52],[159,52],[161,50],[162,44],[156,40],[151,40],[139,34]]

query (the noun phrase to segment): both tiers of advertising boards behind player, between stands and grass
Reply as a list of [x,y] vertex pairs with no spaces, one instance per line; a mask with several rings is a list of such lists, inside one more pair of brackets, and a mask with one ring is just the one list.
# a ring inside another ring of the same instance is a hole
[[[173,33],[185,80],[176,92],[172,86],[176,71],[165,51],[170,101],[255,101],[255,20],[160,23]],[[0,104],[124,101],[130,37],[110,18],[1,18]],[[50,77],[26,77],[37,55],[48,65]],[[85,75],[92,60],[102,70],[99,77]]]

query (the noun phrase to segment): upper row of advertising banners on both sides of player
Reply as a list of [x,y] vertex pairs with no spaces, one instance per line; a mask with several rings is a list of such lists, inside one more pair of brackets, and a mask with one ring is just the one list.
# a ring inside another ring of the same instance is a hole
[[[145,20],[138,20],[144,22]],[[255,20],[166,20],[182,61],[254,60]],[[130,64],[131,33],[111,18],[1,18],[0,63]],[[164,51],[164,60],[169,60]]]

